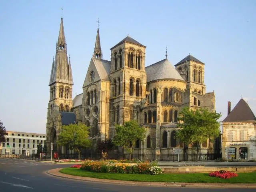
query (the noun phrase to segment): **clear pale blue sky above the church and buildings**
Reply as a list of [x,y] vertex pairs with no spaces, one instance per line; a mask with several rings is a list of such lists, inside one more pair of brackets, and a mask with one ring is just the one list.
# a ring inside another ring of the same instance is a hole
[[[62,10],[63,8],[63,14]],[[6,130],[46,133],[52,57],[63,16],[73,74],[82,85],[100,21],[103,59],[128,34],[146,48],[145,66],[191,54],[205,63],[207,92],[223,120],[241,97],[256,115],[255,0],[44,0],[0,2],[0,121]]]

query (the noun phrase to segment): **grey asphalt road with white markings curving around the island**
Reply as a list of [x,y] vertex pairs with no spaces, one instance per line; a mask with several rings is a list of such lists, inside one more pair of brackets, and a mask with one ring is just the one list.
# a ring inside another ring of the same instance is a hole
[[46,173],[67,164],[0,158],[0,192],[254,192],[255,189],[204,189],[124,186],[58,178]]

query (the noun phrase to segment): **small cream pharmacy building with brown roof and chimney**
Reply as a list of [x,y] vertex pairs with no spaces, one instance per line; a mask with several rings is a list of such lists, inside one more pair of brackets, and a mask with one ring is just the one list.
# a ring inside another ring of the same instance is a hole
[[256,117],[241,99],[222,121],[222,158],[234,160],[256,159]]

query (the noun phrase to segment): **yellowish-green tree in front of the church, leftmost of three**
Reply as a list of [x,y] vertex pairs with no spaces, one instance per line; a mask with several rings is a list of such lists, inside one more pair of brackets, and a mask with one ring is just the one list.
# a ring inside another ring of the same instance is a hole
[[81,122],[78,122],[78,124],[63,125],[57,143],[61,146],[67,146],[70,150],[76,150],[80,159],[82,148],[91,146],[91,141],[88,137],[89,129],[88,126]]

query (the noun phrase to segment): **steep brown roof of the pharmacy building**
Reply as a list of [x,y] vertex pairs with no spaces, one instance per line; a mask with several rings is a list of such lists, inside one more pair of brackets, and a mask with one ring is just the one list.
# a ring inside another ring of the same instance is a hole
[[256,121],[256,117],[247,102],[240,99],[234,109],[223,121]]

